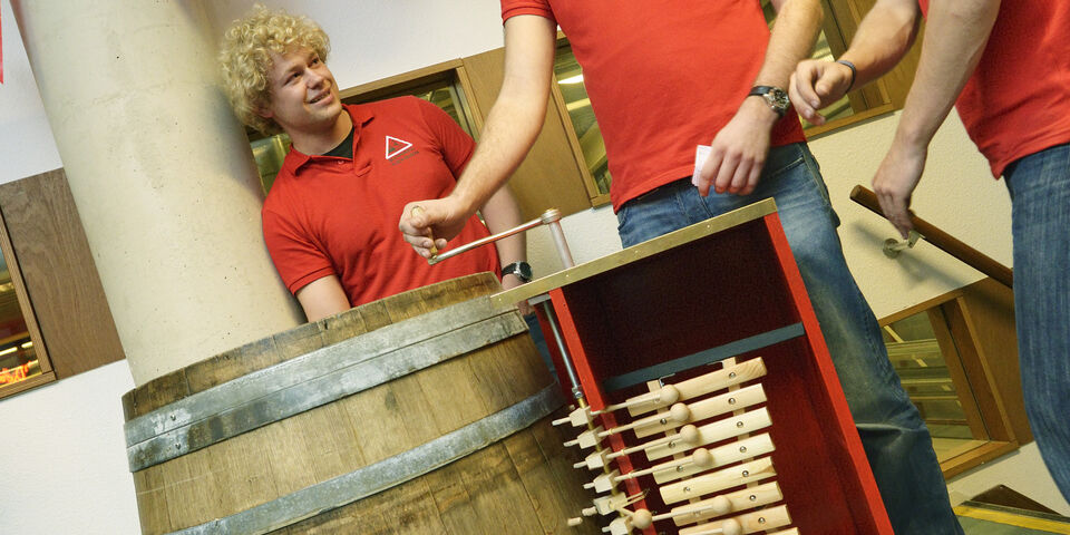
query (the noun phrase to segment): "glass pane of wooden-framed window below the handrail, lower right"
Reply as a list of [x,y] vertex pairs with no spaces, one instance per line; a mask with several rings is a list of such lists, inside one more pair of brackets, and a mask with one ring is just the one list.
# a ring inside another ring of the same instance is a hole
[[963,400],[973,407],[972,392],[969,387],[960,391],[949,368],[949,362],[959,362],[954,343],[944,343],[950,352],[945,354],[932,321],[943,321],[943,315],[923,311],[885,325],[883,333],[888,358],[933,436],[936,457],[943,461],[989,437],[980,418],[970,418],[963,407]]

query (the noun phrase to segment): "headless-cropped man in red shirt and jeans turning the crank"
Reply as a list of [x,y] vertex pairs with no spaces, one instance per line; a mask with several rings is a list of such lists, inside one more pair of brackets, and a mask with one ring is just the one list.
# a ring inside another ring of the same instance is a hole
[[[785,94],[814,47],[820,3],[772,0],[771,33],[761,3],[502,0],[505,77],[476,154],[449,196],[416,201],[421,216],[399,211],[399,227],[427,254],[427,228],[453,237],[516,168],[545,117],[560,26],[605,140],[622,244],[775,198],[895,533],[961,534]],[[691,176],[699,145],[710,156]]]

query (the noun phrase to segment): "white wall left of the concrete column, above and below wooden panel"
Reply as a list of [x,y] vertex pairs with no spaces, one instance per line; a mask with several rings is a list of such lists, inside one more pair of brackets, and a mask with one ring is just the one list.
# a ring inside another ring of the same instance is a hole
[[[0,23],[0,183],[8,183],[64,164],[8,0]],[[120,361],[0,399],[2,533],[138,533],[119,402],[132,388]]]

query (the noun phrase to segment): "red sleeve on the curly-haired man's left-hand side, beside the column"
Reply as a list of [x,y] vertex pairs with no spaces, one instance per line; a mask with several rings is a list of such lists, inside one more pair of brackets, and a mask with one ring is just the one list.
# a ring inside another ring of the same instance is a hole
[[271,210],[264,210],[261,216],[268,254],[290,293],[335,274],[330,259],[293,221]]

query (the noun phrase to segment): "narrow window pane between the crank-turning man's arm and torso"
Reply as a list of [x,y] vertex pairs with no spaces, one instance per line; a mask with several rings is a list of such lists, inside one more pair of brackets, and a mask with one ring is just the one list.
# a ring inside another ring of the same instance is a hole
[[591,99],[587,98],[587,90],[583,86],[583,71],[580,64],[576,62],[575,55],[572,54],[572,47],[565,45],[557,47],[557,55],[554,58],[554,75],[557,77],[557,87],[561,96],[565,100],[565,108],[568,109],[568,118],[572,119],[572,127],[576,132],[576,138],[580,140],[580,148],[583,150],[583,159],[587,165],[587,171],[594,177],[594,183],[599,186],[599,192],[610,193],[609,162],[605,158],[605,143],[602,142],[602,130],[599,129],[599,123],[594,119],[594,110],[591,108]]

